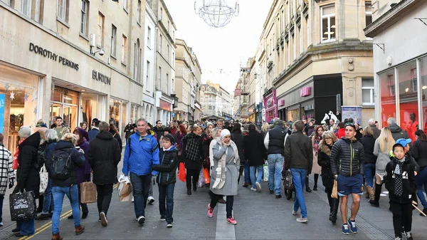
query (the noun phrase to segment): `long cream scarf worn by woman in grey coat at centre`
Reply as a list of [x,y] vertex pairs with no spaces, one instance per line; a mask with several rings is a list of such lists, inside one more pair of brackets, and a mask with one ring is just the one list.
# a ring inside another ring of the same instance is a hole
[[233,148],[234,164],[236,164],[236,161],[239,160],[236,143],[234,143],[232,140],[230,140],[230,142],[228,142],[227,144],[223,143],[223,137],[226,137],[227,135],[231,135],[230,131],[226,129],[222,130],[221,137],[218,137],[218,140],[217,140],[217,143],[220,146],[220,149],[221,147],[226,147],[226,151],[221,156],[221,159],[218,160],[218,167],[216,167],[216,179],[215,179],[214,185],[212,186],[212,188],[214,189],[221,189],[224,186],[224,184],[226,184],[226,159],[227,159],[229,146]]

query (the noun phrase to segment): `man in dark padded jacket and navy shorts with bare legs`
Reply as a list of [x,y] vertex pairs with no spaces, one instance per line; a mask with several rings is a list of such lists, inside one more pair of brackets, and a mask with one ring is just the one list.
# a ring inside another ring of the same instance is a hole
[[[342,233],[357,233],[356,216],[360,207],[360,195],[363,194],[364,147],[356,138],[356,126],[347,122],[345,137],[336,142],[331,150],[331,167],[337,179],[338,196],[341,198]],[[352,194],[352,212],[347,219],[347,202]]]

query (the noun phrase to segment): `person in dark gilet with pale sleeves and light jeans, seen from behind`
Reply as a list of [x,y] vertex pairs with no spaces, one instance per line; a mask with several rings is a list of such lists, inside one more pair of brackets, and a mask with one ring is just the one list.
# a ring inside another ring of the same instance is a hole
[[285,137],[288,133],[284,128],[282,120],[274,122],[273,129],[270,129],[264,138],[264,146],[267,149],[268,157],[268,189],[270,194],[275,194],[276,199],[280,199],[280,189],[282,187],[282,171],[285,158]]

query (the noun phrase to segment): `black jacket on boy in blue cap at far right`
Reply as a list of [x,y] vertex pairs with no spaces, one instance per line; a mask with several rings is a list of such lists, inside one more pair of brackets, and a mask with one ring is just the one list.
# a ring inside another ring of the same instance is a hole
[[[394,157],[392,157],[393,159]],[[386,175],[384,176],[384,183],[386,189],[389,190],[389,199],[391,202],[397,202],[400,204],[411,204],[413,194],[416,194],[416,179],[413,173],[413,166],[411,160],[405,157],[404,165],[402,166],[402,195],[398,196],[394,194],[396,187],[396,176],[394,169],[396,169],[395,160],[391,160],[386,166]],[[412,195],[412,196],[410,196]]]

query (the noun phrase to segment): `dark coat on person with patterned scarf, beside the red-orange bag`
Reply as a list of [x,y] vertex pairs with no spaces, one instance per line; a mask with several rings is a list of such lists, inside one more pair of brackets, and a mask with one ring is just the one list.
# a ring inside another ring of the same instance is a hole
[[[190,139],[196,140],[196,145],[194,146],[194,149],[190,149],[190,147],[188,147],[189,149],[186,149],[186,145]],[[182,162],[185,163],[186,169],[194,169],[200,171],[202,156],[204,156],[203,145],[201,140],[201,136],[195,135],[192,132],[187,134],[182,140]],[[196,160],[192,160],[189,157],[193,153],[196,156]]]

